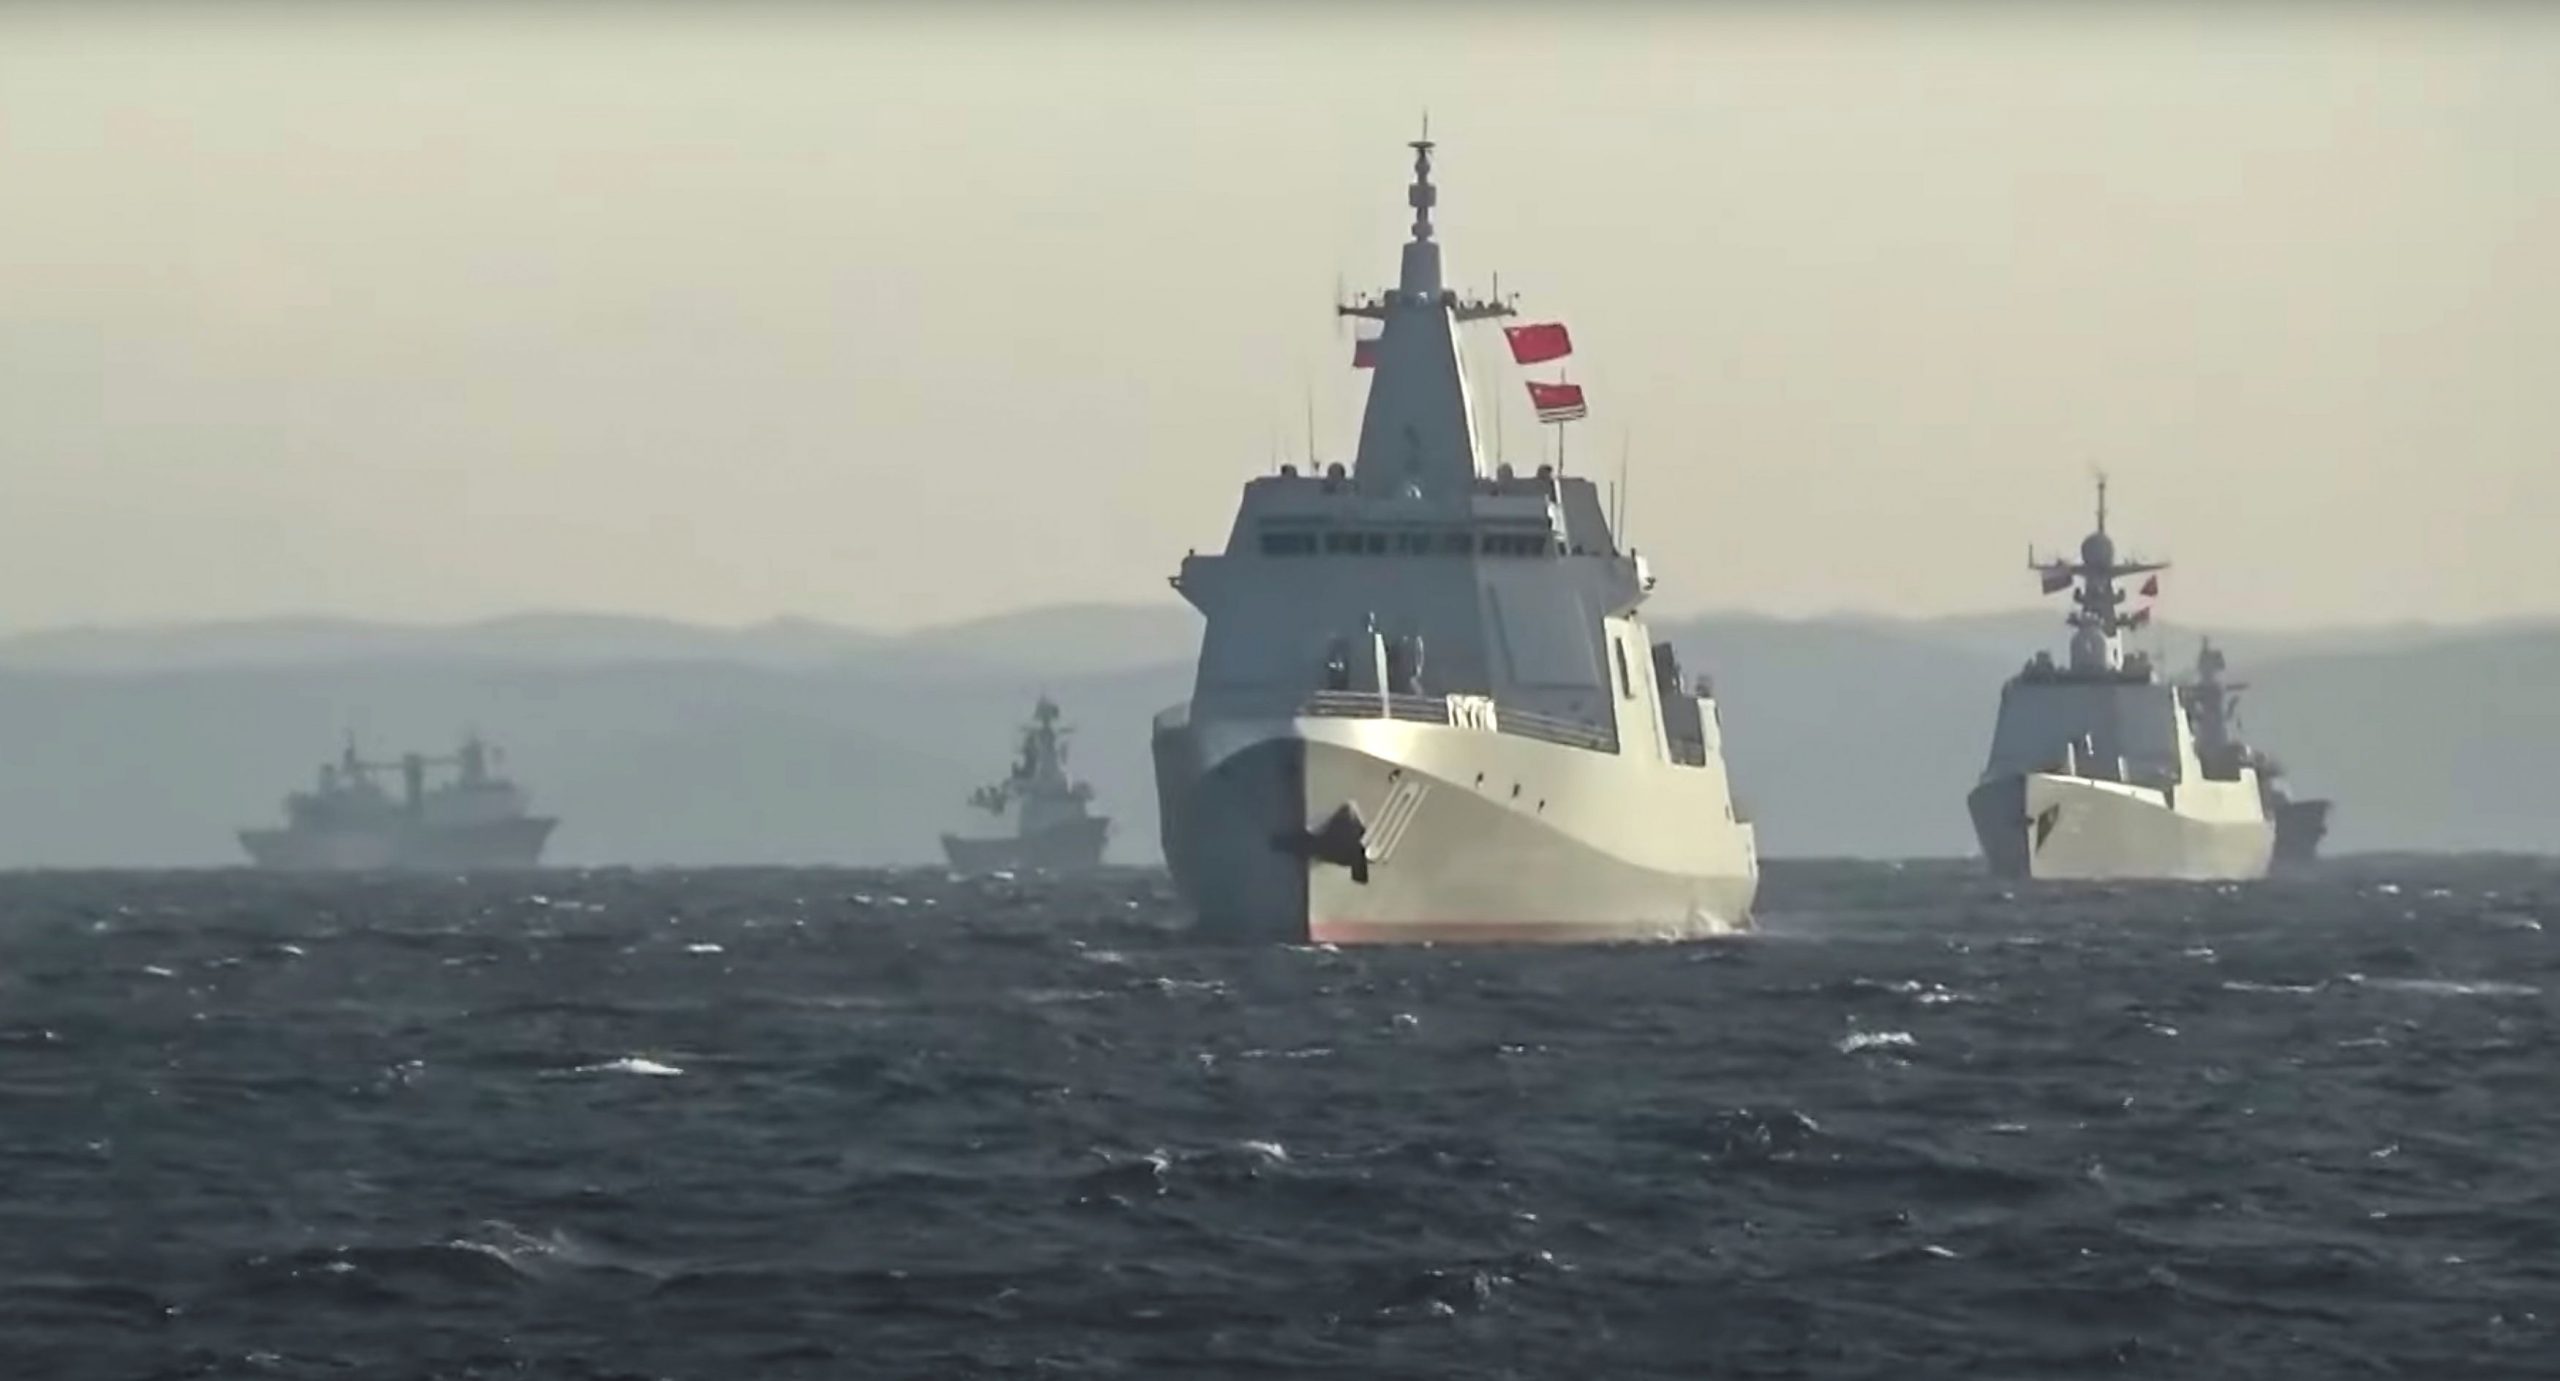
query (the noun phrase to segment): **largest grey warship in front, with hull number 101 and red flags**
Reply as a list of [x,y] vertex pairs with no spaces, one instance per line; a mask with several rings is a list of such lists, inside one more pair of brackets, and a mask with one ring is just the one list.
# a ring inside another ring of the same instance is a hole
[[1743,930],[1759,858],[1713,692],[1646,633],[1654,571],[1597,487],[1487,466],[1459,325],[1516,307],[1446,284],[1411,149],[1398,282],[1336,305],[1377,328],[1354,464],[1247,482],[1226,548],[1172,576],[1203,633],[1155,720],[1165,861],[1239,940]]

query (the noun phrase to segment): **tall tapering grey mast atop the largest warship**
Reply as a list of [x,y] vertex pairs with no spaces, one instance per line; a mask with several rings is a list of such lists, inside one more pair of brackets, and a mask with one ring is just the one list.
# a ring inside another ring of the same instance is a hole
[[1359,418],[1352,482],[1364,494],[1462,500],[1485,474],[1485,464],[1457,328],[1469,320],[1508,318],[1513,307],[1462,297],[1446,287],[1439,228],[1431,223],[1439,187],[1431,182],[1436,143],[1428,123],[1408,149],[1413,149],[1413,184],[1405,190],[1405,205],[1413,208],[1413,238],[1403,246],[1395,290],[1334,307],[1336,315],[1380,323],[1377,366]]

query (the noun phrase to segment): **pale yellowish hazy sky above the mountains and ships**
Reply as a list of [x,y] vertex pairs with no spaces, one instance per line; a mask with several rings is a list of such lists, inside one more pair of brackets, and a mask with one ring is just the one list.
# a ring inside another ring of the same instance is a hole
[[1170,600],[1426,105],[1669,612],[2560,615],[2560,13],[335,10],[0,10],[0,628]]

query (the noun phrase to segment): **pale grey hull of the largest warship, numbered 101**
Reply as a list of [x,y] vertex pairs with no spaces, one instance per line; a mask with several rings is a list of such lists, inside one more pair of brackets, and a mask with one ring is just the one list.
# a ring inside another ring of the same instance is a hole
[[1595,943],[1751,927],[1759,861],[1720,766],[1344,717],[1160,728],[1155,766],[1167,869],[1216,938]]

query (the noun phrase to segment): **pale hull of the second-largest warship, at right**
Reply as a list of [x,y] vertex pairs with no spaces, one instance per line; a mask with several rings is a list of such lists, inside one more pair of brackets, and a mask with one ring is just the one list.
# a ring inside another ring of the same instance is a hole
[[2048,771],[1994,776],[1966,797],[1984,863],[2010,879],[2248,881],[2276,853],[2263,815],[2204,817],[2161,792]]

